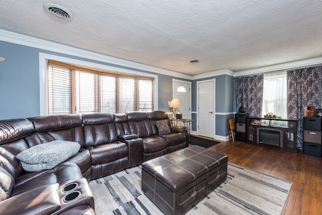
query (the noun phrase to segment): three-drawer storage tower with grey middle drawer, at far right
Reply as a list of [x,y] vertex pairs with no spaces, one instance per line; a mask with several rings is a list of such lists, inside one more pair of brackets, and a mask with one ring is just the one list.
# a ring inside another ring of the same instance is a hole
[[322,157],[322,118],[303,118],[303,154],[315,157]]

